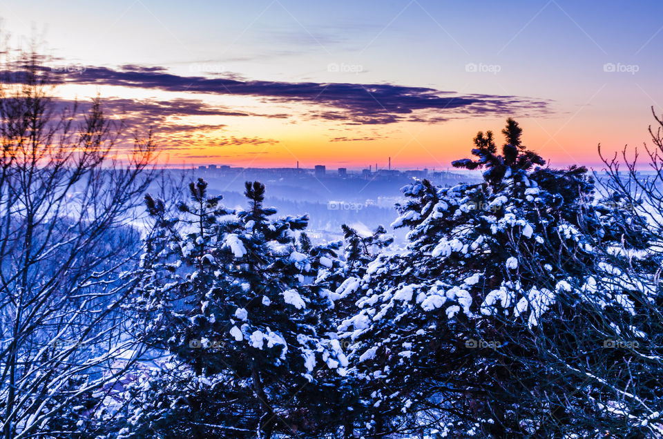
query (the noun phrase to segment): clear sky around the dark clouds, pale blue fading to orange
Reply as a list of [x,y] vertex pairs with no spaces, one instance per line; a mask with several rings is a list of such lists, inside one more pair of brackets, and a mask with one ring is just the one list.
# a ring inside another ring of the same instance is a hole
[[[65,88],[77,97],[99,92],[122,99],[196,99],[224,110],[250,108],[251,117],[208,115],[203,120],[190,115],[186,124],[208,127],[201,128],[195,142],[216,137],[273,141],[261,151],[258,164],[296,158],[334,164],[354,154],[356,159],[349,161],[361,166],[386,151],[404,165],[442,166],[469,148],[473,133],[499,130],[508,115],[521,121],[526,142],[554,162],[593,164],[599,142],[613,149],[642,144],[650,107],[663,112],[663,2],[128,0],[2,5],[3,30],[19,41],[35,29],[60,64],[157,66],[181,77],[389,84],[459,97],[518,98],[513,108],[486,114],[437,108],[438,117],[427,114],[377,129],[357,125],[352,117],[302,116],[321,110],[300,99],[165,92],[150,84],[127,90],[104,81],[93,88],[90,80],[86,86]],[[521,105],[532,100],[546,101],[545,110]],[[291,117],[268,120],[258,113]],[[211,132],[211,125],[224,128]],[[340,137],[363,140],[343,142],[343,147],[330,142]],[[165,140],[172,144],[174,139]],[[209,157],[232,162],[242,148],[256,148],[256,142],[227,143],[209,146]],[[307,149],[311,145],[316,153]],[[246,162],[238,160],[233,164]]]

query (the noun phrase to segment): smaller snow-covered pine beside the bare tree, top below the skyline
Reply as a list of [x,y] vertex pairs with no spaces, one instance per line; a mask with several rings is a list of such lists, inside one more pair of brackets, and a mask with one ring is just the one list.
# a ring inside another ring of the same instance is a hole
[[[130,420],[133,434],[146,425],[206,437],[315,431],[330,417],[313,407],[327,398],[320,378],[347,366],[324,312],[324,273],[338,269],[340,244],[297,240],[307,216],[274,218],[259,182],[246,184],[245,211],[227,211],[206,190],[202,179],[191,184],[175,218],[147,200],[160,231],[144,257],[153,271],[140,307],[151,343],[175,358],[140,383],[149,398]],[[164,411],[169,422],[156,422]]]

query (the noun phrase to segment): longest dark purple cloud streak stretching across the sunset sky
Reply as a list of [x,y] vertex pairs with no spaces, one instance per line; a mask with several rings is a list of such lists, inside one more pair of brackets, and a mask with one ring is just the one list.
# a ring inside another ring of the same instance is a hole
[[[71,70],[71,71],[70,71]],[[549,101],[502,95],[459,95],[434,88],[394,84],[347,84],[316,82],[246,81],[232,77],[173,75],[161,67],[86,67],[55,72],[59,81],[192,92],[213,95],[257,97],[276,103],[303,103],[327,108],[308,117],[345,121],[349,124],[392,124],[403,120],[439,121],[445,115],[547,113]],[[188,99],[178,99],[186,106]],[[139,103],[140,105],[140,103]],[[163,104],[168,110],[168,106]],[[195,108],[187,107],[191,111]],[[172,109],[176,111],[176,109]],[[227,113],[224,113],[227,112]],[[195,113],[200,114],[200,113]],[[248,115],[229,109],[221,115]]]

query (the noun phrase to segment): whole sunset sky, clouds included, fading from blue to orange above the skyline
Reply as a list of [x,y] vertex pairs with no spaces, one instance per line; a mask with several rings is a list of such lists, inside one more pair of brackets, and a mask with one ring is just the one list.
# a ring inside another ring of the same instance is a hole
[[[0,0],[64,101],[153,127],[169,166],[444,170],[507,117],[600,168],[663,113],[663,2]],[[501,139],[500,139],[501,140]]]

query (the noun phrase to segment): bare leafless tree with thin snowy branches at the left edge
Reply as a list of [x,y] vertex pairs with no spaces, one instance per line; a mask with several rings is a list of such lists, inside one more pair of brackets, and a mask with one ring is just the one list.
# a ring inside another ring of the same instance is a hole
[[99,99],[85,111],[61,105],[37,52],[3,53],[0,424],[10,439],[57,430],[62,411],[137,355],[121,310],[140,252],[127,224],[153,177],[155,142],[126,137]]

